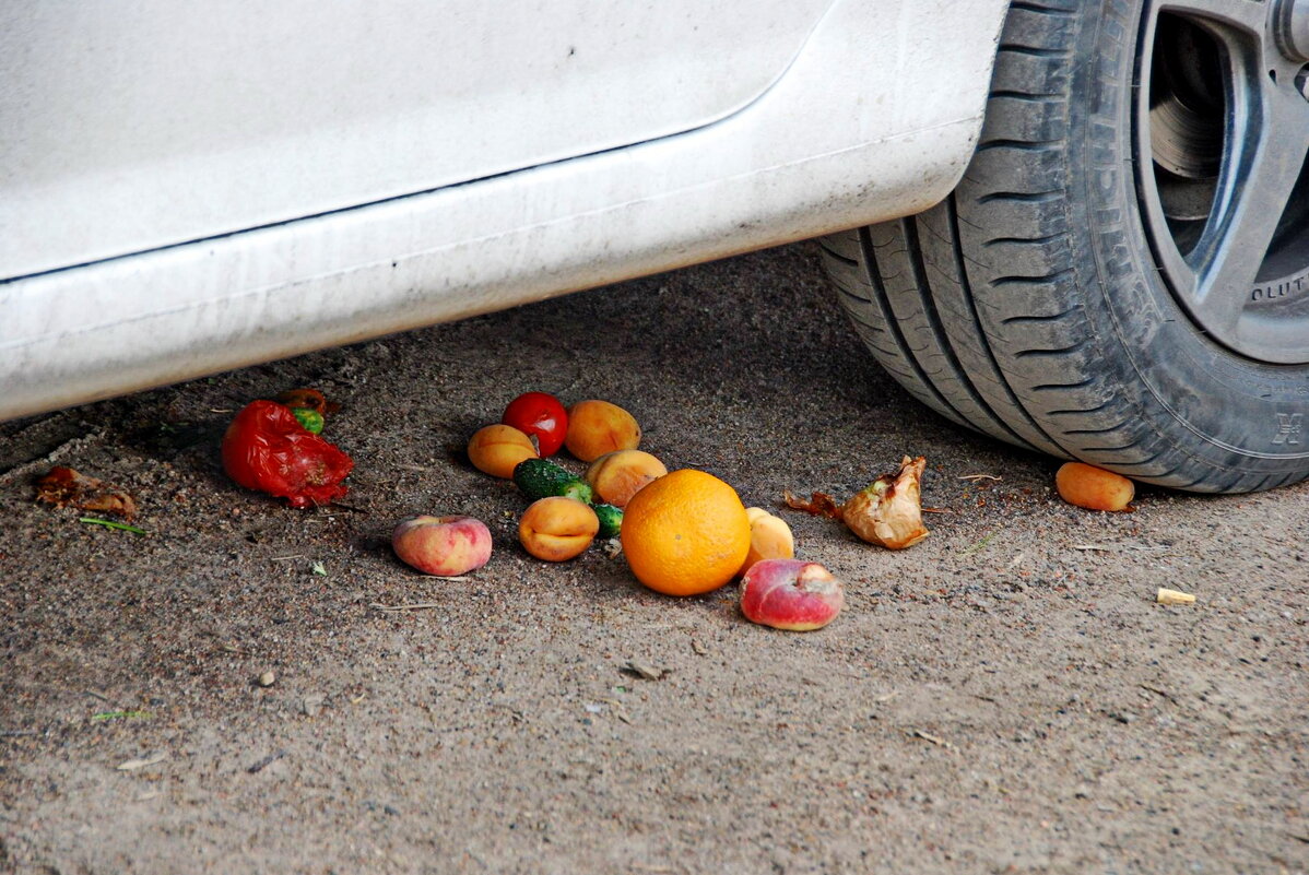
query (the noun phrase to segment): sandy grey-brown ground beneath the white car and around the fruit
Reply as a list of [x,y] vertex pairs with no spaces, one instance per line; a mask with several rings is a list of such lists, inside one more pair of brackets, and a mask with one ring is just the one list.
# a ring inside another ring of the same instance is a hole
[[[234,409],[302,385],[344,405],[344,507],[219,464]],[[908,453],[952,513],[891,553],[779,510],[848,604],[754,626],[733,586],[522,552],[462,445],[529,388],[622,404],[746,504]],[[148,534],[37,505],[51,463]],[[1309,488],[1097,514],[1055,467],[915,405],[806,245],[0,425],[0,870],[1309,871]],[[402,566],[421,511],[487,521],[490,564]]]

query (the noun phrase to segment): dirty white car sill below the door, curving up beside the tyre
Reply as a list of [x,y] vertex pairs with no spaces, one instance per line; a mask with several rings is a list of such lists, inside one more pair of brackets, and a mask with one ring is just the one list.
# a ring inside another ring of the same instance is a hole
[[924,209],[975,144],[1005,7],[839,0],[780,80],[711,124],[10,280],[0,417]]

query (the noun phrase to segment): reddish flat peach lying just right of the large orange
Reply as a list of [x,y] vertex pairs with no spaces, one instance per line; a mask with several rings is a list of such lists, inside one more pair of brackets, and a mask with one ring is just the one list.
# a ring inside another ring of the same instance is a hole
[[751,623],[812,632],[840,613],[846,591],[840,581],[818,562],[766,558],[741,581],[741,612]]

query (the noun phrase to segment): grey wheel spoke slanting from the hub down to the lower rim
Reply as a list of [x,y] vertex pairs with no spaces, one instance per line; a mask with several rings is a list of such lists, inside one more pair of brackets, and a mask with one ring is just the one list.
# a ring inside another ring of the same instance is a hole
[[[1253,60],[1253,59],[1251,59]],[[1186,258],[1192,307],[1211,330],[1236,327],[1309,149],[1309,103],[1233,58],[1228,144],[1213,209]]]

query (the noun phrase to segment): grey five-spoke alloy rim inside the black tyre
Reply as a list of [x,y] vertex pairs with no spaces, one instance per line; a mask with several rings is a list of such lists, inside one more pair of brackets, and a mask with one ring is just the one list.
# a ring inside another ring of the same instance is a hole
[[1147,0],[1134,146],[1160,275],[1195,327],[1309,364],[1309,0]]

